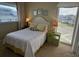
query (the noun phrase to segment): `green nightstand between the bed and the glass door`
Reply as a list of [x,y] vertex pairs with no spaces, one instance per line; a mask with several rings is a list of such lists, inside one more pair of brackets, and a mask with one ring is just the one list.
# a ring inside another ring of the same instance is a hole
[[61,33],[58,32],[48,32],[47,33],[47,42],[49,44],[58,46],[60,41],[60,35]]

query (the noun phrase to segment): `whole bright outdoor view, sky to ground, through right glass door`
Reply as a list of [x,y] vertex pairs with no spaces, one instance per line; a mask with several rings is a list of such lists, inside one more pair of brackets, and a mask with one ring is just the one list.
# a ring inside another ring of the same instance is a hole
[[61,33],[60,41],[71,44],[78,7],[59,8],[57,31]]

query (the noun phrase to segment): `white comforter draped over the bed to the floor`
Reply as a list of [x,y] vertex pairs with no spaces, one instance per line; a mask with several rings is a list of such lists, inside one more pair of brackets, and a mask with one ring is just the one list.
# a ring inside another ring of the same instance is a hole
[[6,35],[4,43],[14,45],[25,52],[25,56],[34,56],[35,52],[45,42],[46,33],[31,31],[29,28],[12,32]]

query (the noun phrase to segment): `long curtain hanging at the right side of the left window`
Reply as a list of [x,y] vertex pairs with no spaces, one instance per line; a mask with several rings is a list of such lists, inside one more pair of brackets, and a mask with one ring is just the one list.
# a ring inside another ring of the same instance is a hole
[[17,2],[17,15],[18,15],[18,27],[19,29],[24,27],[25,23],[25,17],[26,17],[26,12],[25,12],[25,5],[24,2]]

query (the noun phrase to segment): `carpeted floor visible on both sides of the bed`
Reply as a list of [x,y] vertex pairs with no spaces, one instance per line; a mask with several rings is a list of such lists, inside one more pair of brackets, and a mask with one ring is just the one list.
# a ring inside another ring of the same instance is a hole
[[[22,57],[0,46],[0,57]],[[36,53],[36,57],[74,57],[71,46],[60,43],[58,47],[45,43]]]

